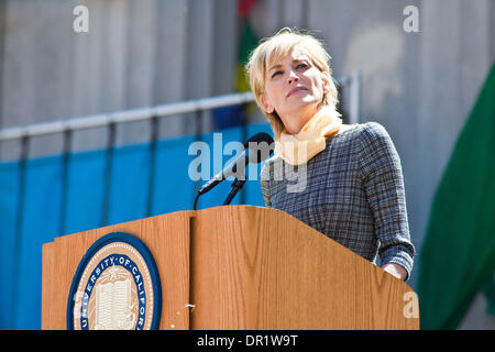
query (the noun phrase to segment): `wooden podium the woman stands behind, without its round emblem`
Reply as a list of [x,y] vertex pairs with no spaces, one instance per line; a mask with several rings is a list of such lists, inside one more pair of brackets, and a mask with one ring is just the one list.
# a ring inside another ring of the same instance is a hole
[[251,206],[178,211],[43,245],[42,328],[66,329],[81,257],[110,232],[139,238],[162,283],[160,329],[419,329],[404,282],[289,215]]

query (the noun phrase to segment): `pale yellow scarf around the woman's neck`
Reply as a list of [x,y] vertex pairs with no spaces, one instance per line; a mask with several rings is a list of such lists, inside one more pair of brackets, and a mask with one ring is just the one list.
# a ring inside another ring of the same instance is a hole
[[280,156],[290,165],[307,163],[311,157],[324,150],[326,139],[339,133],[342,119],[328,107],[318,111],[297,134],[286,130],[275,140],[275,155]]

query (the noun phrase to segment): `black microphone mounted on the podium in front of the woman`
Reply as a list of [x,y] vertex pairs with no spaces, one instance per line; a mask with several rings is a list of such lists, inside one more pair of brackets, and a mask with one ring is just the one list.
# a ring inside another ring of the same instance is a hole
[[206,194],[211,188],[232,175],[244,173],[249,163],[261,163],[273,154],[273,138],[265,132],[254,134],[244,143],[244,151],[231,163],[207,182],[198,191],[198,196]]

